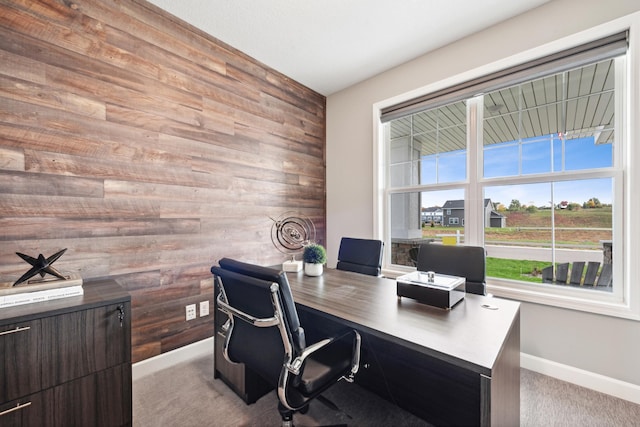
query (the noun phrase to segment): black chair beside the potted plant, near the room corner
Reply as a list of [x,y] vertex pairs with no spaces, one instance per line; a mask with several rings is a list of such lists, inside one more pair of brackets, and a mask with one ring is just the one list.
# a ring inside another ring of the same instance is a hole
[[340,241],[336,268],[369,276],[380,276],[383,250],[384,242],[380,240],[343,237]]

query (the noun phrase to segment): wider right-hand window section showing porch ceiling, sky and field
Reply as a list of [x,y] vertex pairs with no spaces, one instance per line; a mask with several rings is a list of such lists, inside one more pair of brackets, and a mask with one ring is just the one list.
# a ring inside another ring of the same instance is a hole
[[480,187],[504,219],[484,224],[487,255],[502,254],[491,259],[499,264],[494,277],[613,291],[608,276],[585,273],[598,263],[602,276],[612,262],[616,64],[624,62],[596,62],[474,100],[483,115]]

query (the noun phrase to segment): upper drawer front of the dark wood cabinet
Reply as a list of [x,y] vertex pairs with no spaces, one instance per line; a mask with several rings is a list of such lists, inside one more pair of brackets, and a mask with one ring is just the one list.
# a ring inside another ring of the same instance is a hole
[[0,403],[130,363],[130,319],[127,302],[3,325]]

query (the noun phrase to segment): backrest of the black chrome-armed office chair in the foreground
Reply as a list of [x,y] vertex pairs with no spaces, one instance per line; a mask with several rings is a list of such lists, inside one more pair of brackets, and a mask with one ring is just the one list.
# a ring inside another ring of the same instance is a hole
[[[300,354],[306,347],[304,330],[300,327],[286,274],[229,258],[221,259],[219,265],[212,267],[211,272],[220,280],[226,302],[253,317],[274,317],[271,290],[274,283],[278,285],[286,339],[291,344],[292,357]],[[278,326],[261,328],[244,321],[234,321],[226,339],[227,355],[232,361],[245,363],[269,383],[278,385],[285,360],[285,338]]]

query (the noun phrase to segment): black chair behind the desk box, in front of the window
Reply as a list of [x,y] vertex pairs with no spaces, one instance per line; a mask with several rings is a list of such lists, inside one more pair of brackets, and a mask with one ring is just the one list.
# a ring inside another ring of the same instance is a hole
[[485,250],[480,246],[420,245],[418,271],[434,271],[466,279],[466,292],[487,294]]

